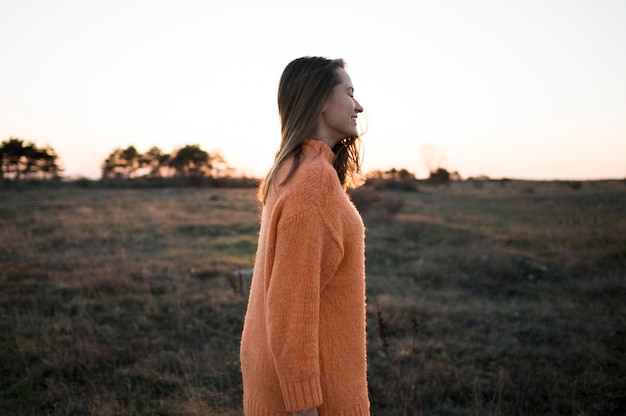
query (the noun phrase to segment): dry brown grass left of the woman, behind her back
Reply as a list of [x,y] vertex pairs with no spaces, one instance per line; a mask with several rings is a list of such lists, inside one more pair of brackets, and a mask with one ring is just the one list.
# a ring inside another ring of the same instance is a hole
[[253,192],[2,198],[0,413],[236,413]]

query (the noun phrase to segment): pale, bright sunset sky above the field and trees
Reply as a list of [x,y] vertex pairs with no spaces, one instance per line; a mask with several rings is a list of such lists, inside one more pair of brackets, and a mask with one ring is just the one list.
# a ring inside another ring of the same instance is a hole
[[280,74],[311,55],[348,63],[365,171],[621,179],[625,22],[623,0],[0,0],[0,141],[67,177],[187,144],[261,177]]

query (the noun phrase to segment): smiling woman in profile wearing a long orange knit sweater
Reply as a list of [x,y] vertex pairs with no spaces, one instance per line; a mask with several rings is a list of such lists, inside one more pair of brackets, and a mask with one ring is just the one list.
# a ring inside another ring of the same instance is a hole
[[342,60],[305,57],[280,79],[281,144],[263,203],[241,340],[247,416],[369,415],[362,183]]

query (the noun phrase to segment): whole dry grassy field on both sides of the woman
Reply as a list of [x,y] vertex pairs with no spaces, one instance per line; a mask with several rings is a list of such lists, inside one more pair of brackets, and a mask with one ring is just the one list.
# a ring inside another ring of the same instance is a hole
[[[626,414],[626,182],[375,185],[373,415]],[[258,225],[254,189],[0,188],[0,414],[241,415]]]

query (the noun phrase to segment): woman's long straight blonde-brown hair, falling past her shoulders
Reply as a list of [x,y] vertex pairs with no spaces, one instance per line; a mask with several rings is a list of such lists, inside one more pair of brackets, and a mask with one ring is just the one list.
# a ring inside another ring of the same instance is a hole
[[[281,142],[274,165],[259,187],[259,199],[264,203],[274,186],[276,172],[289,157],[293,164],[284,181],[298,169],[302,143],[313,133],[324,103],[335,85],[340,83],[337,68],[344,68],[342,59],[303,57],[291,61],[283,71],[278,84],[278,113],[281,122]],[[344,189],[363,184],[359,136],[341,140],[333,148],[333,166]]]

